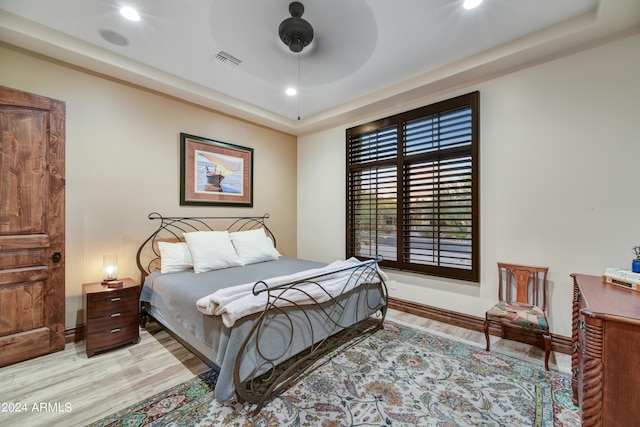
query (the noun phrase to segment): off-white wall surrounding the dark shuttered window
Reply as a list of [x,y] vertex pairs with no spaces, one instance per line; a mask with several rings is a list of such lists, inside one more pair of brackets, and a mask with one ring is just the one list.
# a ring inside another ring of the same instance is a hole
[[[640,244],[638,52],[636,34],[447,94],[480,91],[481,281],[390,272],[390,295],[484,317],[497,261],[548,266],[551,329],[570,336],[569,274],[630,268]],[[298,139],[301,258],[345,256],[345,129],[356,124]]]

